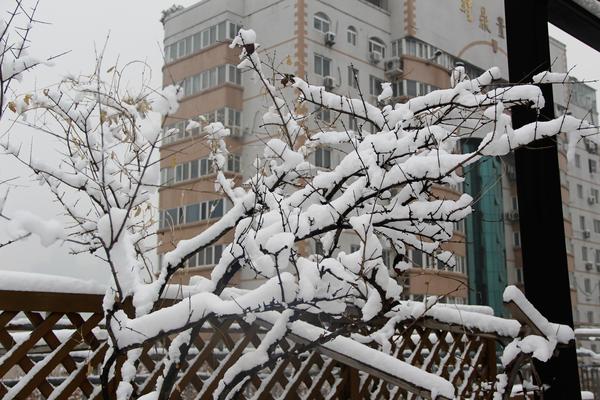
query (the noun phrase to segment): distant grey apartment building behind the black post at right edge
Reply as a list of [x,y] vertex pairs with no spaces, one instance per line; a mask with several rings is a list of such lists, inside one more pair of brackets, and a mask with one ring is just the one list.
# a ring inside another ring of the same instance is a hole
[[[555,72],[567,72],[566,46],[550,39],[550,54]],[[567,84],[554,87],[555,114],[565,111],[576,118],[598,125],[596,91],[571,77]],[[575,327],[600,326],[600,156],[597,146],[582,140],[573,159],[567,160],[568,140],[558,137],[563,218],[570,276],[571,303]],[[503,193],[505,204],[506,260],[508,281],[523,284],[519,211],[516,198],[514,160],[504,158]],[[543,234],[540,232],[540,234]],[[543,266],[534,266],[543,268]],[[594,351],[597,345],[587,343]]]

